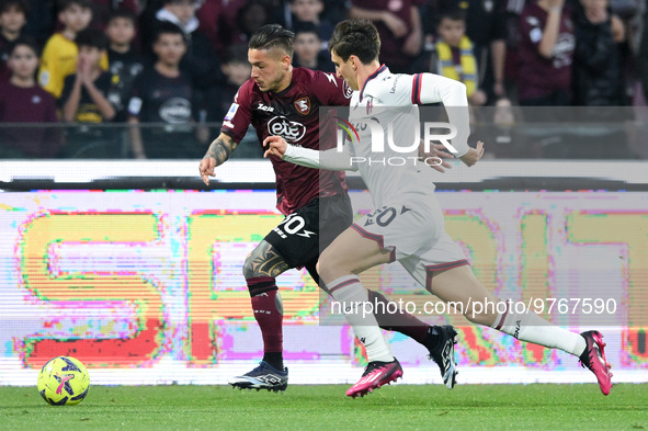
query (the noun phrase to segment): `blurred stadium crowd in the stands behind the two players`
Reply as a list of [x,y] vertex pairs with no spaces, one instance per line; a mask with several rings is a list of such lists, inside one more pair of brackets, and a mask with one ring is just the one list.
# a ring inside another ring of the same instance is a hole
[[[248,41],[266,23],[295,32],[295,66],[333,71],[336,23],[372,20],[393,72],[461,80],[473,106],[503,113],[499,125],[514,123],[518,106],[645,106],[646,9],[644,0],[0,0],[0,159],[202,158],[217,133],[209,125],[249,79]],[[606,136],[592,154],[625,137]],[[550,147],[493,154],[576,151]],[[630,147],[615,152],[648,158]],[[237,150],[261,155],[258,145]]]

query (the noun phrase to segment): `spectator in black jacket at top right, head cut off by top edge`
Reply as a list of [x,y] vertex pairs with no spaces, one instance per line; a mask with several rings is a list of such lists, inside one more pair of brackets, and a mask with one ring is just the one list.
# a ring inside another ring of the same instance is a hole
[[607,0],[580,0],[576,13],[573,104],[623,106],[628,104],[621,47],[614,41]]

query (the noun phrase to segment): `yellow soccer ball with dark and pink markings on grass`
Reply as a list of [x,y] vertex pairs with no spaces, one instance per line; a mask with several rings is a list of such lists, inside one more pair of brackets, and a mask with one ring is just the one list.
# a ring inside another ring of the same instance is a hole
[[57,356],[38,373],[38,393],[53,406],[73,406],[83,400],[90,387],[88,370],[78,359]]

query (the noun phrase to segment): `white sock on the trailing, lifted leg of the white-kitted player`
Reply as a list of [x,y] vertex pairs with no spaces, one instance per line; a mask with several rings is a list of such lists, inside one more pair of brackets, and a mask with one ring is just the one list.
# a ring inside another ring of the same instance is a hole
[[587,347],[586,339],[580,333],[552,325],[535,313],[516,314],[509,305],[503,316],[498,315],[491,328],[513,336],[518,340],[560,349],[576,356],[580,356]]

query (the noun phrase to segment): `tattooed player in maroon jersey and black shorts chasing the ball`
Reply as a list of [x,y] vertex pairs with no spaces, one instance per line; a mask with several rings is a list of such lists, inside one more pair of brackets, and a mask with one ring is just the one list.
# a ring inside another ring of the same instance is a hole
[[[319,107],[349,105],[352,91],[332,73],[293,68],[294,33],[281,25],[261,27],[250,39],[251,79],[241,86],[224,118],[219,136],[201,160],[206,185],[252,124],[260,141],[282,136],[305,148],[320,149]],[[334,125],[333,125],[334,126]],[[239,388],[285,390],[288,370],[283,364],[282,303],[275,277],[304,266],[319,283],[316,263],[326,248],[352,222],[351,203],[342,172],[298,167],[271,157],[276,173],[277,209],[286,218],[257,246],[243,263],[252,310],[263,337],[263,361],[229,384]],[[321,237],[320,237],[321,236]],[[387,304],[370,291],[374,303]],[[396,309],[387,308],[384,309]],[[428,326],[408,314],[376,315],[384,329],[402,332],[432,351],[445,342],[447,331]],[[387,322],[388,321],[388,322]]]

